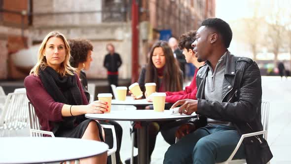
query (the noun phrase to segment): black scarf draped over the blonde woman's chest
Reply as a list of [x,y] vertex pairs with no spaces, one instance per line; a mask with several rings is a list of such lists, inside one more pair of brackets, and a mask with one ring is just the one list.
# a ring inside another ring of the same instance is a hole
[[[74,75],[60,76],[53,68],[39,71],[40,80],[48,94],[56,101],[68,105],[83,105],[82,94]],[[83,115],[64,117],[62,122],[53,123],[53,133],[59,129],[70,129],[85,120]]]

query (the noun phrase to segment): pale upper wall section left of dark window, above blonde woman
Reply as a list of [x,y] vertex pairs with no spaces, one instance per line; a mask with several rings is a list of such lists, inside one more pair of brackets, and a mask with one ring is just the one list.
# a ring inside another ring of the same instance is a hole
[[101,23],[102,20],[100,12],[49,14],[100,11],[102,6],[101,0],[33,0],[33,6],[34,27],[94,25]]

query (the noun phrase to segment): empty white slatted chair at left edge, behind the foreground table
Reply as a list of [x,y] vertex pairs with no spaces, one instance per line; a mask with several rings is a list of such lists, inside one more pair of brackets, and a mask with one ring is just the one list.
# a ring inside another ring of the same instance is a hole
[[3,111],[0,116],[1,135],[6,130],[18,130],[28,124],[28,99],[25,93],[9,93],[5,99]]

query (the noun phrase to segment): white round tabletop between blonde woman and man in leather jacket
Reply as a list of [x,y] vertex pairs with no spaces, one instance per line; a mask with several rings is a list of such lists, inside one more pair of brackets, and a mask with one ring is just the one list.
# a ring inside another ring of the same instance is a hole
[[155,112],[154,110],[123,110],[111,111],[105,114],[86,114],[85,117],[97,120],[115,120],[115,121],[165,121],[165,120],[179,120],[190,119],[195,117],[192,115],[172,114],[171,111]]

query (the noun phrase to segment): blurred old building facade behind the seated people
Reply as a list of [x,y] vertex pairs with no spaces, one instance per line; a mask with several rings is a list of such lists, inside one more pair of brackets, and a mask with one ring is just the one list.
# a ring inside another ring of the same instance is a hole
[[[215,0],[137,2],[140,66],[146,63],[149,48],[153,41],[159,39],[161,30],[171,30],[172,36],[178,38],[184,32],[197,29],[205,18],[215,16]],[[9,54],[40,43],[49,32],[60,31],[67,39],[92,41],[93,62],[87,72],[88,78],[106,78],[103,59],[107,53],[106,44],[110,42],[123,61],[119,78],[131,79],[131,3],[132,0],[0,0],[0,47],[5,49],[0,55],[8,59]],[[6,10],[17,11],[18,15],[9,13],[7,16]],[[6,33],[7,30],[10,33]],[[21,40],[18,41],[18,38]],[[19,44],[16,49],[11,48],[15,47],[14,44]],[[7,79],[11,68],[8,62],[6,66],[4,61],[1,62],[0,79]],[[19,79],[23,75],[15,73],[11,78]]]

